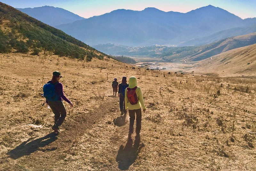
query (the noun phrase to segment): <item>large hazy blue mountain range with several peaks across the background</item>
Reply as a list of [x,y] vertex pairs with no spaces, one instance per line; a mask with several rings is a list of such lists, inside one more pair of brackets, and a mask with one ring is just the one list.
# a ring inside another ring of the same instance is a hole
[[256,18],[241,19],[209,5],[187,13],[164,12],[156,8],[142,11],[120,9],[56,27],[91,45],[150,46],[178,45],[225,29],[246,27],[253,22],[256,23]]

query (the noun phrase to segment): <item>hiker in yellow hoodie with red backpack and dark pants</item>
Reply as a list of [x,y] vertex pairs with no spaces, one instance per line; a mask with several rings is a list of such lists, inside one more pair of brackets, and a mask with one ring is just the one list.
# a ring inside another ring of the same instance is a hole
[[128,138],[131,138],[133,133],[133,125],[135,120],[136,113],[136,137],[140,136],[141,129],[141,107],[143,108],[143,112],[146,111],[146,107],[144,105],[142,92],[140,87],[137,87],[137,80],[135,77],[129,78],[129,87],[125,89],[125,97],[124,97],[125,109],[129,110],[130,116],[130,127],[129,127],[129,135]]

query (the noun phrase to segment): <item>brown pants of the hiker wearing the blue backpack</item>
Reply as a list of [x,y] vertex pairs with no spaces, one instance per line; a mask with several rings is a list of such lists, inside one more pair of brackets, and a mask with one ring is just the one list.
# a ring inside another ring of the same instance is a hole
[[54,113],[54,128],[58,128],[65,120],[67,112],[62,101],[48,101],[48,105],[51,107]]

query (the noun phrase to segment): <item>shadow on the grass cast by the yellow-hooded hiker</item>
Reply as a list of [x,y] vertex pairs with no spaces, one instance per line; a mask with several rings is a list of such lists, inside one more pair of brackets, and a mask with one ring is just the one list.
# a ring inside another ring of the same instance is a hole
[[118,162],[118,168],[120,170],[127,170],[132,163],[137,159],[143,144],[140,145],[140,137],[135,138],[134,145],[132,146],[132,139],[128,139],[125,147],[120,146],[116,156],[116,162]]

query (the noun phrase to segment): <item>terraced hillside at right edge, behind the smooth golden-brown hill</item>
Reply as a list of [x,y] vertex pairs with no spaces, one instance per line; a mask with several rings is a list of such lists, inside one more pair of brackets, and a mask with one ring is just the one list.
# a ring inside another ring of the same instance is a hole
[[203,51],[203,52],[199,51],[196,54],[191,55],[188,61],[203,60],[205,58],[209,58],[214,55],[217,55],[232,49],[252,45],[254,43],[256,43],[256,33],[251,33],[248,35],[240,35],[236,37],[229,37],[227,39],[223,39],[221,41],[218,41],[209,45],[205,45],[206,48],[204,48],[203,50],[207,50],[207,48],[209,48],[209,50]]

